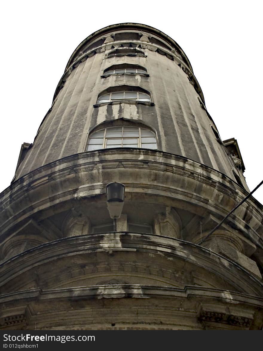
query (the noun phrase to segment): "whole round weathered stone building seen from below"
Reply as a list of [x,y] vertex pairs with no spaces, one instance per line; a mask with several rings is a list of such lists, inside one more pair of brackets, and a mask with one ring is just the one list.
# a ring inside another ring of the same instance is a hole
[[[263,211],[180,46],[141,24],[73,52],[1,193],[2,329],[259,330]],[[113,220],[106,185],[125,185]]]

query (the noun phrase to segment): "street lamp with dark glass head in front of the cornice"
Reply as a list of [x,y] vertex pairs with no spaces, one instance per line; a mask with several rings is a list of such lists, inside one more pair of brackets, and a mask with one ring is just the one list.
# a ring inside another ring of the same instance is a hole
[[113,219],[113,230],[116,232],[116,218],[121,217],[121,211],[124,204],[125,185],[117,183],[109,183],[106,185],[107,207],[110,218]]

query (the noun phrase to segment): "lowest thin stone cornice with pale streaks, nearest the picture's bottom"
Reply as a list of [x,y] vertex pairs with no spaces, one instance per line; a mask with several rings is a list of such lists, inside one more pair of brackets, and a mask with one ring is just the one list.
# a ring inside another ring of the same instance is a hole
[[186,285],[184,289],[175,287],[162,287],[150,285],[95,285],[69,287],[64,289],[29,289],[14,293],[0,295],[0,303],[10,303],[19,300],[54,300],[68,299],[80,300],[88,298],[175,298],[191,299],[198,298],[209,301],[216,299],[224,304],[245,304],[262,308],[263,298],[251,294],[238,293],[235,291],[212,289],[202,286]]

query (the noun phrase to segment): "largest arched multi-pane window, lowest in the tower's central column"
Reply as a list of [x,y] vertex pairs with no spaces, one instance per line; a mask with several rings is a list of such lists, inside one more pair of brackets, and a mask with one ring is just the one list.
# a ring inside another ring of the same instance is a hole
[[112,147],[136,147],[157,149],[154,132],[141,127],[116,126],[90,134],[87,151]]

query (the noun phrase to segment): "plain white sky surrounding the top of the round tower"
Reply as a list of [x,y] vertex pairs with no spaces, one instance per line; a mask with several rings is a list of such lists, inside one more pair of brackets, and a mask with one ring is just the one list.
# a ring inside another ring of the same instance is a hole
[[[260,1],[9,1],[1,5],[1,172],[9,186],[74,49],[98,29],[137,22],[160,29],[188,56],[223,140],[236,138],[252,190],[262,166]],[[263,203],[263,185],[254,197]]]

